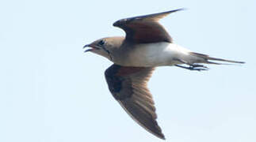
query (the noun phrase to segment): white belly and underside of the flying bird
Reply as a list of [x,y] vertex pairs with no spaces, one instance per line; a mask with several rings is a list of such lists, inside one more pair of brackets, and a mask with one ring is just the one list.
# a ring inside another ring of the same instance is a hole
[[[191,54],[188,49],[175,43],[145,43],[138,44],[125,59],[124,64],[128,66],[162,66],[176,65],[182,62],[194,63],[200,58]],[[181,62],[182,61],[182,62]]]

